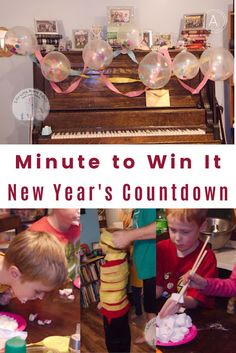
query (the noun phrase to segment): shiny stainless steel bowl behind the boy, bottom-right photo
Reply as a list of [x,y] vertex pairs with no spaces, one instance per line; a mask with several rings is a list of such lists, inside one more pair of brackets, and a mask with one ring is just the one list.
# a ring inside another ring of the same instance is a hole
[[220,249],[230,239],[234,228],[235,224],[227,219],[207,218],[201,230],[200,239],[205,241],[206,237],[210,235],[212,249]]

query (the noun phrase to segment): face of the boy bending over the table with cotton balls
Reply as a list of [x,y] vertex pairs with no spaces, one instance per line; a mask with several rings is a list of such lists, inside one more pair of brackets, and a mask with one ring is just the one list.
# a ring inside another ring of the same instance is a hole
[[20,277],[12,282],[11,288],[21,303],[26,303],[28,300],[43,299],[45,293],[54,289],[41,281],[22,281]]

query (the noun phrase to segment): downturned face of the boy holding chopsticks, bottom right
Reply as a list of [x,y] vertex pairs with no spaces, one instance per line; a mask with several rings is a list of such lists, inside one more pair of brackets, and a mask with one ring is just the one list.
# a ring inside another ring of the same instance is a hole
[[200,227],[196,222],[180,221],[171,216],[167,217],[167,221],[170,239],[177,250],[185,253],[197,244]]

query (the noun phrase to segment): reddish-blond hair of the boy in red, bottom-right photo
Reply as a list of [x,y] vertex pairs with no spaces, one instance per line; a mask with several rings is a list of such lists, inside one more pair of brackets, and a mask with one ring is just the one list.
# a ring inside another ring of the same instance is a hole
[[207,209],[197,208],[168,208],[165,210],[166,217],[171,216],[182,222],[195,222],[201,226],[207,217]]

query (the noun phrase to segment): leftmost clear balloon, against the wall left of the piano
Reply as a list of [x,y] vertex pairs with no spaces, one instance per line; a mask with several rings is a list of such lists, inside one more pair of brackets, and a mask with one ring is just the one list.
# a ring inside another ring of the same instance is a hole
[[37,40],[33,32],[21,26],[9,29],[4,41],[9,51],[19,55],[33,54],[37,47]]

